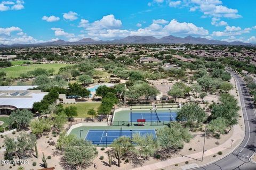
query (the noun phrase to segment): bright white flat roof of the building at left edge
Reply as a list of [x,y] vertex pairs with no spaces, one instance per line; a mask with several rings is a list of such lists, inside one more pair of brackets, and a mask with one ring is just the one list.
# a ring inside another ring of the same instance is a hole
[[29,96],[32,98],[0,98],[0,105],[11,105],[17,108],[31,109],[35,102],[41,101],[46,93],[35,94],[32,93]]

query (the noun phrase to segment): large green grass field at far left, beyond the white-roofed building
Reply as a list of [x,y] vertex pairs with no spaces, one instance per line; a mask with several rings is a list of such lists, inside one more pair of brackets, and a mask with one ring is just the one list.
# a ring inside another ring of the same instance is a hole
[[4,71],[7,74],[7,77],[17,78],[20,76],[21,73],[27,73],[28,71],[33,71],[37,68],[42,68],[46,70],[54,69],[54,73],[58,73],[61,67],[65,67],[72,64],[31,64],[26,66],[13,66],[13,67],[6,67],[0,69],[0,71]]

